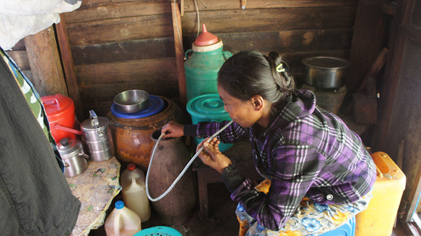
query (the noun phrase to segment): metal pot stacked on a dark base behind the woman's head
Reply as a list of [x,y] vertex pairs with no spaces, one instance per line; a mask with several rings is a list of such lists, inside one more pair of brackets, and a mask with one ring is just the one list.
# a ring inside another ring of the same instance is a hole
[[345,78],[351,63],[337,57],[307,57],[301,62],[305,64],[302,89],[314,92],[322,109],[337,114],[347,94]]

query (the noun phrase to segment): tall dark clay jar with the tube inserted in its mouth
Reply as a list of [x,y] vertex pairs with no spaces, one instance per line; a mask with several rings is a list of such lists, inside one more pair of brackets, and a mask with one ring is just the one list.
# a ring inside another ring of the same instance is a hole
[[[161,130],[152,134],[156,143]],[[151,153],[152,154],[152,153]],[[149,194],[152,198],[162,195],[177,179],[190,160],[189,151],[180,138],[161,139],[149,167]],[[180,225],[192,217],[195,203],[195,178],[192,168],[181,177],[171,192],[161,200],[152,202],[165,225]]]

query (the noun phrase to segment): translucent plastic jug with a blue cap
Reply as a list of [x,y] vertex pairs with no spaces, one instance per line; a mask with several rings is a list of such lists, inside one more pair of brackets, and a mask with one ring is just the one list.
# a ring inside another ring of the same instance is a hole
[[107,236],[132,236],[142,230],[140,217],[135,211],[124,207],[123,201],[117,201],[115,207],[105,220]]

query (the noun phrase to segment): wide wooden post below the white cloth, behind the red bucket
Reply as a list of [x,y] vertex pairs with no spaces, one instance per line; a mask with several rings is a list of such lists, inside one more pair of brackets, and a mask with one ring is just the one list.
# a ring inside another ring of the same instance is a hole
[[25,47],[33,76],[32,83],[39,95],[69,96],[53,27],[26,36]]

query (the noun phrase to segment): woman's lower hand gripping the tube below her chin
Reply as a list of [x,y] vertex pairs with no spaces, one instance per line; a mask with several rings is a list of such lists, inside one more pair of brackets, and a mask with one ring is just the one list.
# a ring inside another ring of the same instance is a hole
[[219,151],[218,145],[220,144],[220,141],[218,141],[216,137],[209,140],[209,143],[206,142],[206,140],[208,139],[201,141],[201,143],[197,145],[196,152],[203,146],[203,150],[199,153],[199,158],[205,165],[222,173],[225,167],[231,165],[232,162],[226,155]]

